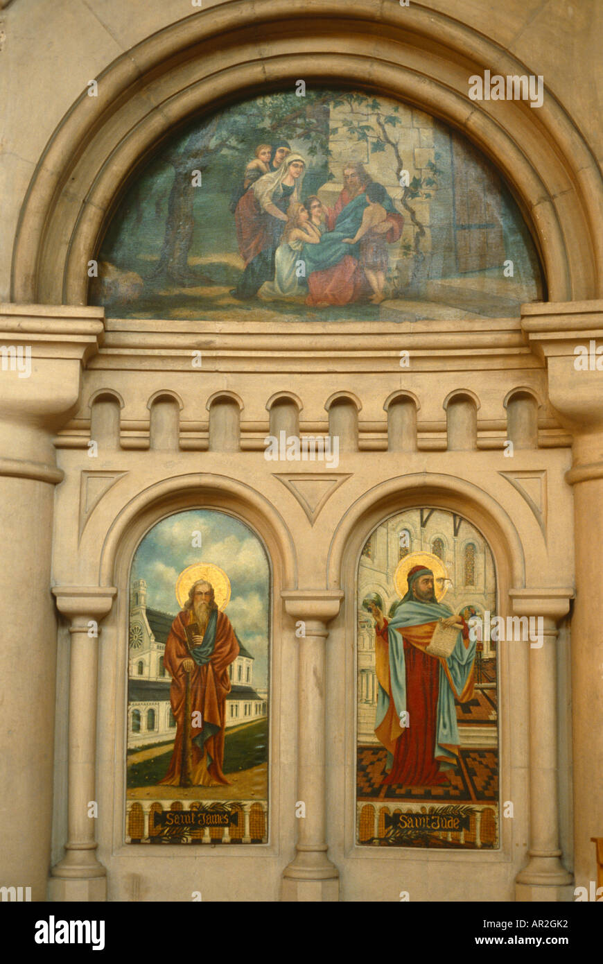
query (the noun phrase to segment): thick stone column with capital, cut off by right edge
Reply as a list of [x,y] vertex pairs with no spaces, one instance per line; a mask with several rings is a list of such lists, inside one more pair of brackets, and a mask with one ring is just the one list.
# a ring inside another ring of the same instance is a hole
[[[596,880],[603,828],[603,301],[524,306],[522,328],[546,362],[548,396],[573,436],[576,599],[571,616],[574,877]],[[598,354],[597,354],[598,350]]]

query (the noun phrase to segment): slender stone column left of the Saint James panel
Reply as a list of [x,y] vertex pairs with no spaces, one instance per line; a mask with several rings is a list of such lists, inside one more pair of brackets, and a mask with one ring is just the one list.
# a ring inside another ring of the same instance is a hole
[[59,612],[69,620],[69,739],[66,855],[51,873],[51,900],[106,900],[106,870],[96,859],[96,702],[98,623],[110,611],[113,587],[56,587]]

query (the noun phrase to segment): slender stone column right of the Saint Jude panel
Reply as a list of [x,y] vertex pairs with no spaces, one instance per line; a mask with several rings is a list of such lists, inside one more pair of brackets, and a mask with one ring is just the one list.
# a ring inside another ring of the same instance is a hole
[[511,589],[510,596],[516,616],[542,619],[542,645],[539,639],[529,643],[530,845],[528,865],[515,878],[515,899],[571,900],[573,878],[561,862],[559,845],[556,644],[572,592]]

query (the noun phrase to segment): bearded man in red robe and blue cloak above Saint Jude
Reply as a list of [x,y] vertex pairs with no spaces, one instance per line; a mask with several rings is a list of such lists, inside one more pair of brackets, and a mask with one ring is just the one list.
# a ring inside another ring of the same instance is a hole
[[[473,696],[475,641],[469,627],[434,595],[433,572],[415,566],[407,592],[387,620],[376,603],[375,662],[379,696],[375,733],[387,750],[383,784],[435,787],[448,782],[447,770],[459,760],[455,699]],[[447,658],[430,656],[438,622],[459,635]],[[401,724],[401,714],[406,713]]]

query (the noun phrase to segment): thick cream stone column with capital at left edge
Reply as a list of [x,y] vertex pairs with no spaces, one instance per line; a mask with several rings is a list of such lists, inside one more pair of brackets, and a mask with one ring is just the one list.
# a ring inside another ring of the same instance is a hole
[[78,402],[102,308],[0,305],[0,885],[46,898],[57,629],[50,594],[55,432]]

